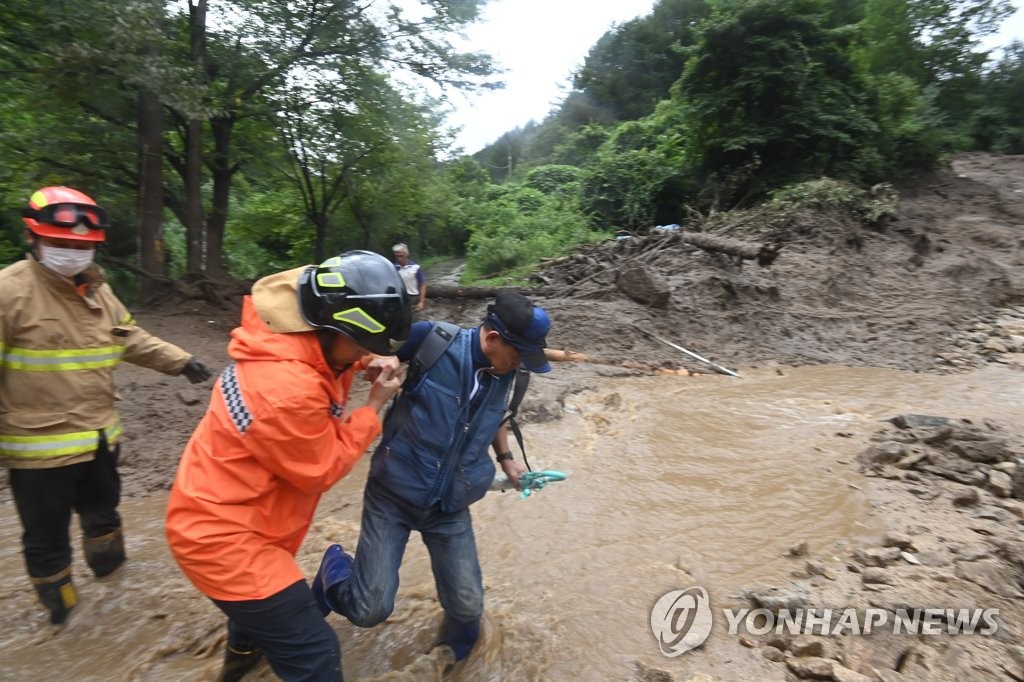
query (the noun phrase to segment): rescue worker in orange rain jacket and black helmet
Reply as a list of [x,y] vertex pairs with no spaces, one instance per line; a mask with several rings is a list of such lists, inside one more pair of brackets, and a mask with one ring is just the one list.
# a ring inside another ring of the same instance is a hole
[[[381,432],[389,355],[412,309],[391,263],[352,251],[271,274],[246,297],[167,508],[171,552],[227,614],[220,679],[267,658],[285,680],[340,680],[341,651],[295,561],[323,493]],[[367,403],[346,413],[359,372]]]

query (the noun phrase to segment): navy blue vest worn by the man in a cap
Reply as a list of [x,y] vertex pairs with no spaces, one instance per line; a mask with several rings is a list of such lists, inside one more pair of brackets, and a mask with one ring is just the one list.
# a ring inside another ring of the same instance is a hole
[[487,375],[471,401],[473,341],[472,330],[461,330],[384,420],[370,478],[416,507],[440,503],[443,512],[460,511],[482,498],[494,480],[488,451],[515,373]]

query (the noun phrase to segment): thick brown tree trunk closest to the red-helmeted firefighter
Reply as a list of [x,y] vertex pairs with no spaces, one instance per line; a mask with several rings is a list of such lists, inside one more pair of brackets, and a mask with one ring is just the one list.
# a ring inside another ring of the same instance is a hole
[[[163,276],[164,260],[164,165],[163,108],[152,90],[138,94],[138,254],[142,269]],[[157,284],[146,278],[139,282],[139,298],[150,302]]]

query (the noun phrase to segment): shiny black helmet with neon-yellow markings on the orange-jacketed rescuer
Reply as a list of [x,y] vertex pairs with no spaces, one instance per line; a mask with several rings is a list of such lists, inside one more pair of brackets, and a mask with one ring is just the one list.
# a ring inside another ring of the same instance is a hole
[[370,251],[348,251],[307,267],[299,278],[299,309],[313,327],[344,334],[378,355],[393,355],[413,321],[394,265]]

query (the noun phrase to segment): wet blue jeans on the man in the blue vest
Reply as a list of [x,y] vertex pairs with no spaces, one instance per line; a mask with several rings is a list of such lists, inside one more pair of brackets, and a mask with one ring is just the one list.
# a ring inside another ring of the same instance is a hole
[[372,628],[391,614],[412,530],[420,531],[430,553],[437,597],[447,619],[478,624],[483,614],[483,578],[469,509],[445,514],[438,505],[412,507],[372,479],[362,495],[362,529],[352,578],[333,593],[338,612],[361,628]]

